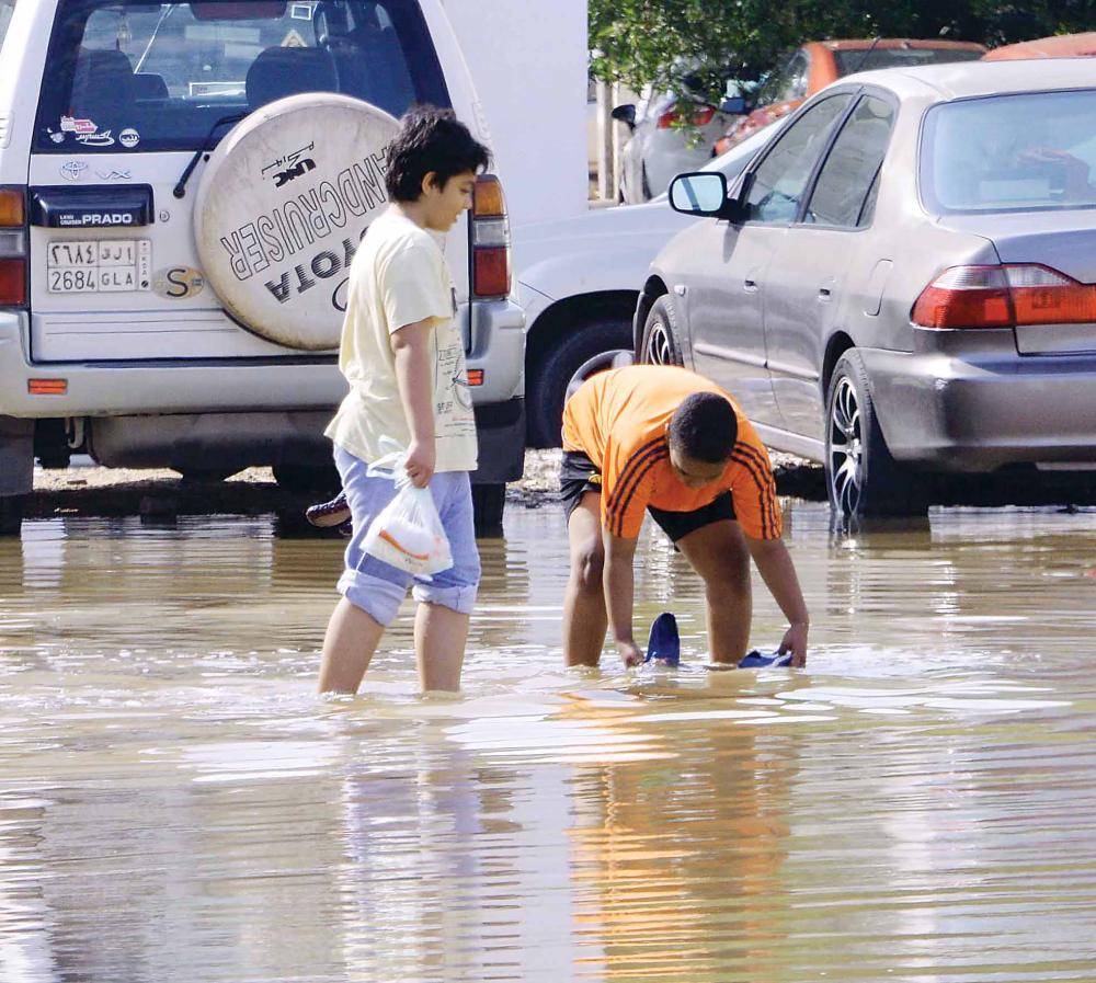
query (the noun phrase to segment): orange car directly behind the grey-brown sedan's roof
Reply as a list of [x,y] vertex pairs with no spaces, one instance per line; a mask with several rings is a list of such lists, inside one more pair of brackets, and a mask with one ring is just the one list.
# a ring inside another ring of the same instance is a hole
[[837,79],[857,71],[902,65],[975,61],[985,45],[966,41],[914,41],[877,37],[864,41],[811,41],[783,58],[752,100],[755,108],[740,118],[716,144],[716,155],[792,110]]

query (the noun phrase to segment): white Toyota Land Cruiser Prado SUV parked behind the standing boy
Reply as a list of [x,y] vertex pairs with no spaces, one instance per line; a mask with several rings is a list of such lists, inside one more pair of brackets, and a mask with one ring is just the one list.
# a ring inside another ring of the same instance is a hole
[[[306,482],[396,117],[489,141],[441,0],[0,0],[0,529],[75,449]],[[488,176],[445,240],[488,512],[524,448],[509,245]]]

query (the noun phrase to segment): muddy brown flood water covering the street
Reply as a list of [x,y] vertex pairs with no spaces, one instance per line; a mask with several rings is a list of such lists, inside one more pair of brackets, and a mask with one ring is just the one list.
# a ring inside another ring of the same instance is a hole
[[[481,544],[464,691],[408,605],[313,695],[343,544],[271,518],[0,540],[0,981],[1096,980],[1096,511],[833,534],[806,671],[561,668],[558,507]],[[783,620],[760,585],[753,642]]]

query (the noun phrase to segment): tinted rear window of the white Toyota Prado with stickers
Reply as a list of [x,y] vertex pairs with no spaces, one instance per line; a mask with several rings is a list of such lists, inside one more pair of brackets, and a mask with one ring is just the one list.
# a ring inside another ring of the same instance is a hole
[[47,59],[42,152],[194,150],[218,119],[300,92],[397,117],[449,104],[416,0],[61,0]]

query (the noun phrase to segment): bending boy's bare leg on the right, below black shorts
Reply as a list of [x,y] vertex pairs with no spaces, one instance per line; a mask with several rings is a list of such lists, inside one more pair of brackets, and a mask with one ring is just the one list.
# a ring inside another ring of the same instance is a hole
[[677,548],[704,580],[712,662],[738,665],[753,618],[750,550],[741,526],[730,519],[712,523],[683,536]]

